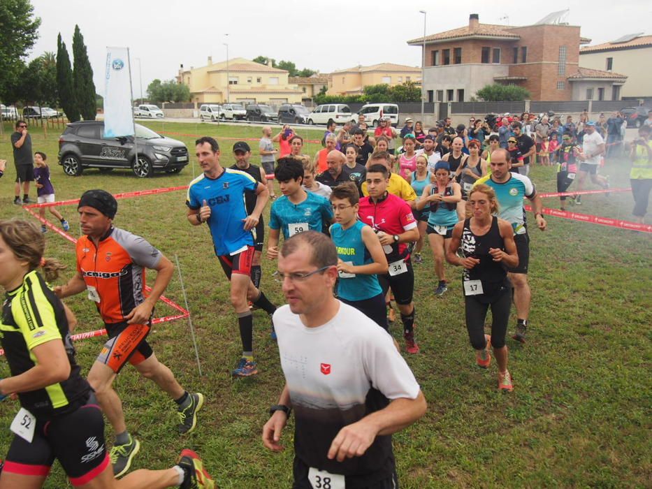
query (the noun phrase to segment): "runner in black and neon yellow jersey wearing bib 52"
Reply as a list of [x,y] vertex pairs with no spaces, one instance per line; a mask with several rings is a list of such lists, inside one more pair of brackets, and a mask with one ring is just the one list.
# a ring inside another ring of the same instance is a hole
[[10,428],[15,435],[0,487],[41,488],[55,458],[75,487],[215,487],[190,450],[170,469],[114,479],[102,413],[75,360],[69,327],[75,318],[38,271],[42,267],[51,282],[66,267],[43,258],[43,251],[45,240],[34,224],[0,221],[0,286],[7,294],[0,341],[11,372],[0,380],[0,394],[17,395],[21,406]]

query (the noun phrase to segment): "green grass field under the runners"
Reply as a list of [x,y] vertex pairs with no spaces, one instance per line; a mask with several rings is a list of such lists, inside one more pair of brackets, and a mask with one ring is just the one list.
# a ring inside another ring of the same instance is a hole
[[[217,136],[222,163],[229,166],[235,141],[226,138],[260,134],[259,127],[245,124],[146,125],[186,134],[171,137],[183,140],[191,153],[193,135]],[[0,217],[27,217],[11,203],[15,173],[10,128],[4,129],[0,157],[9,164],[0,180]],[[50,131],[45,138],[34,129],[31,134],[34,150],[50,156],[57,200],[78,198],[92,188],[118,193],[184,185],[199,171],[193,156],[191,166],[179,175],[141,180],[126,170],[109,174],[87,170],[81,177],[68,177],[57,165],[57,133]],[[300,134],[311,139],[323,135],[307,130]],[[307,145],[310,154],[317,149]],[[258,156],[252,158],[258,161]],[[626,161],[614,161],[601,171],[611,175],[613,187],[628,187],[629,168]],[[552,168],[535,167],[530,176],[539,190],[554,191]],[[558,200],[548,198],[544,205],[558,207]],[[584,196],[577,210],[630,219],[632,205],[629,193],[616,193]],[[78,234],[75,208],[60,210],[76,231],[73,234]],[[142,444],[134,468],[168,467],[182,448],[189,447],[203,456],[220,488],[289,488],[292,449],[270,453],[260,440],[268,407],[277,401],[283,384],[268,319],[263,312],[254,312],[254,349],[261,373],[255,379],[232,380],[229,372],[240,356],[240,337],[228,285],[212,252],[208,228],[190,226],[185,212],[184,194],[178,191],[119,200],[115,219],[117,226],[145,236],[168,257],[178,254],[203,377],[198,376],[186,321],[155,326],[150,340],[182,386],[203,392],[208,401],[196,432],[179,437],[173,402],[127,367],[115,386],[127,425]],[[531,232],[531,326],[526,345],[507,342],[515,386],[510,395],[497,392],[495,363],[488,372],[474,367],[464,325],[461,269],[447,268],[449,291],[435,298],[437,279],[428,250],[425,263],[415,265],[421,353],[407,361],[426,395],[428,412],[394,437],[402,488],[651,487],[652,236],[554,217],[548,222],[548,231]],[[47,238],[47,256],[69,265],[67,279],[74,272],[73,246],[52,232]],[[262,288],[281,304],[279,284],[271,279],[273,270],[274,263],[263,263]],[[166,295],[182,304],[178,275]],[[101,327],[95,308],[82,294],[66,302],[78,315],[78,330]],[[161,303],[157,315],[171,310]],[[395,326],[393,333],[402,343],[400,328]],[[101,338],[78,342],[84,372],[102,342]],[[6,363],[0,365],[0,375],[6,376]],[[0,404],[0,456],[8,448],[15,411],[15,402]],[[284,433],[286,446],[291,447],[293,428],[291,422]],[[110,428],[107,437],[113,437]],[[59,467],[46,487],[66,487]]]

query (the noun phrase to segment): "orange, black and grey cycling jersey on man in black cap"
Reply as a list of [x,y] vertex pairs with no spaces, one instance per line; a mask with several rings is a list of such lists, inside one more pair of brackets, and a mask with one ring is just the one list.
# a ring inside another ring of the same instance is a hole
[[97,247],[88,236],[78,240],[77,270],[105,323],[126,321],[124,316],[145,300],[145,268],[156,268],[161,256],[144,238],[115,227]]

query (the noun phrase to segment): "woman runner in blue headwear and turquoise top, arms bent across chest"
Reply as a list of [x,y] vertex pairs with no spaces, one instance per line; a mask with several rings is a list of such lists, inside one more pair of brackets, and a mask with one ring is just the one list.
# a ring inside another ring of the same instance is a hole
[[457,206],[462,200],[460,184],[450,177],[447,161],[435,165],[435,183],[428,184],[416,201],[416,209],[428,207],[428,242],[435,257],[435,274],[439,279],[435,295],[441,297],[448,290],[444,259],[451,241],[453,227],[458,222]]

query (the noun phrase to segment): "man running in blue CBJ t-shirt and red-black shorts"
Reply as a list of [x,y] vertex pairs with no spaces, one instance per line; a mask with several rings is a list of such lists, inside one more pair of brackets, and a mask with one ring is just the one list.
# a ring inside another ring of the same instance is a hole
[[[222,167],[215,139],[204,136],[196,140],[195,147],[203,174],[188,187],[187,219],[193,226],[208,224],[215,254],[231,282],[231,305],[238,316],[242,341],[242,357],[231,374],[249,377],[258,373],[258,367],[254,361],[254,319],[247,301],[268,314],[276,310],[251,280],[255,250],[252,230],[259,224],[269,194],[267,187],[248,173]],[[256,206],[251,214],[247,214],[245,207],[247,191],[256,194]]]

